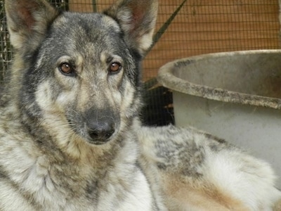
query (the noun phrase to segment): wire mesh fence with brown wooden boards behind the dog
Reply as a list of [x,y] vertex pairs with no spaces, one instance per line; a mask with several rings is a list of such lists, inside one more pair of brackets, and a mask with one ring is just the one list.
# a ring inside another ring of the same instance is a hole
[[[103,11],[114,0],[50,0],[63,11]],[[220,51],[280,49],[281,0],[159,0],[155,43],[143,62],[147,124],[173,123],[171,91],[155,76],[165,63]],[[13,57],[0,0],[0,84]]]

